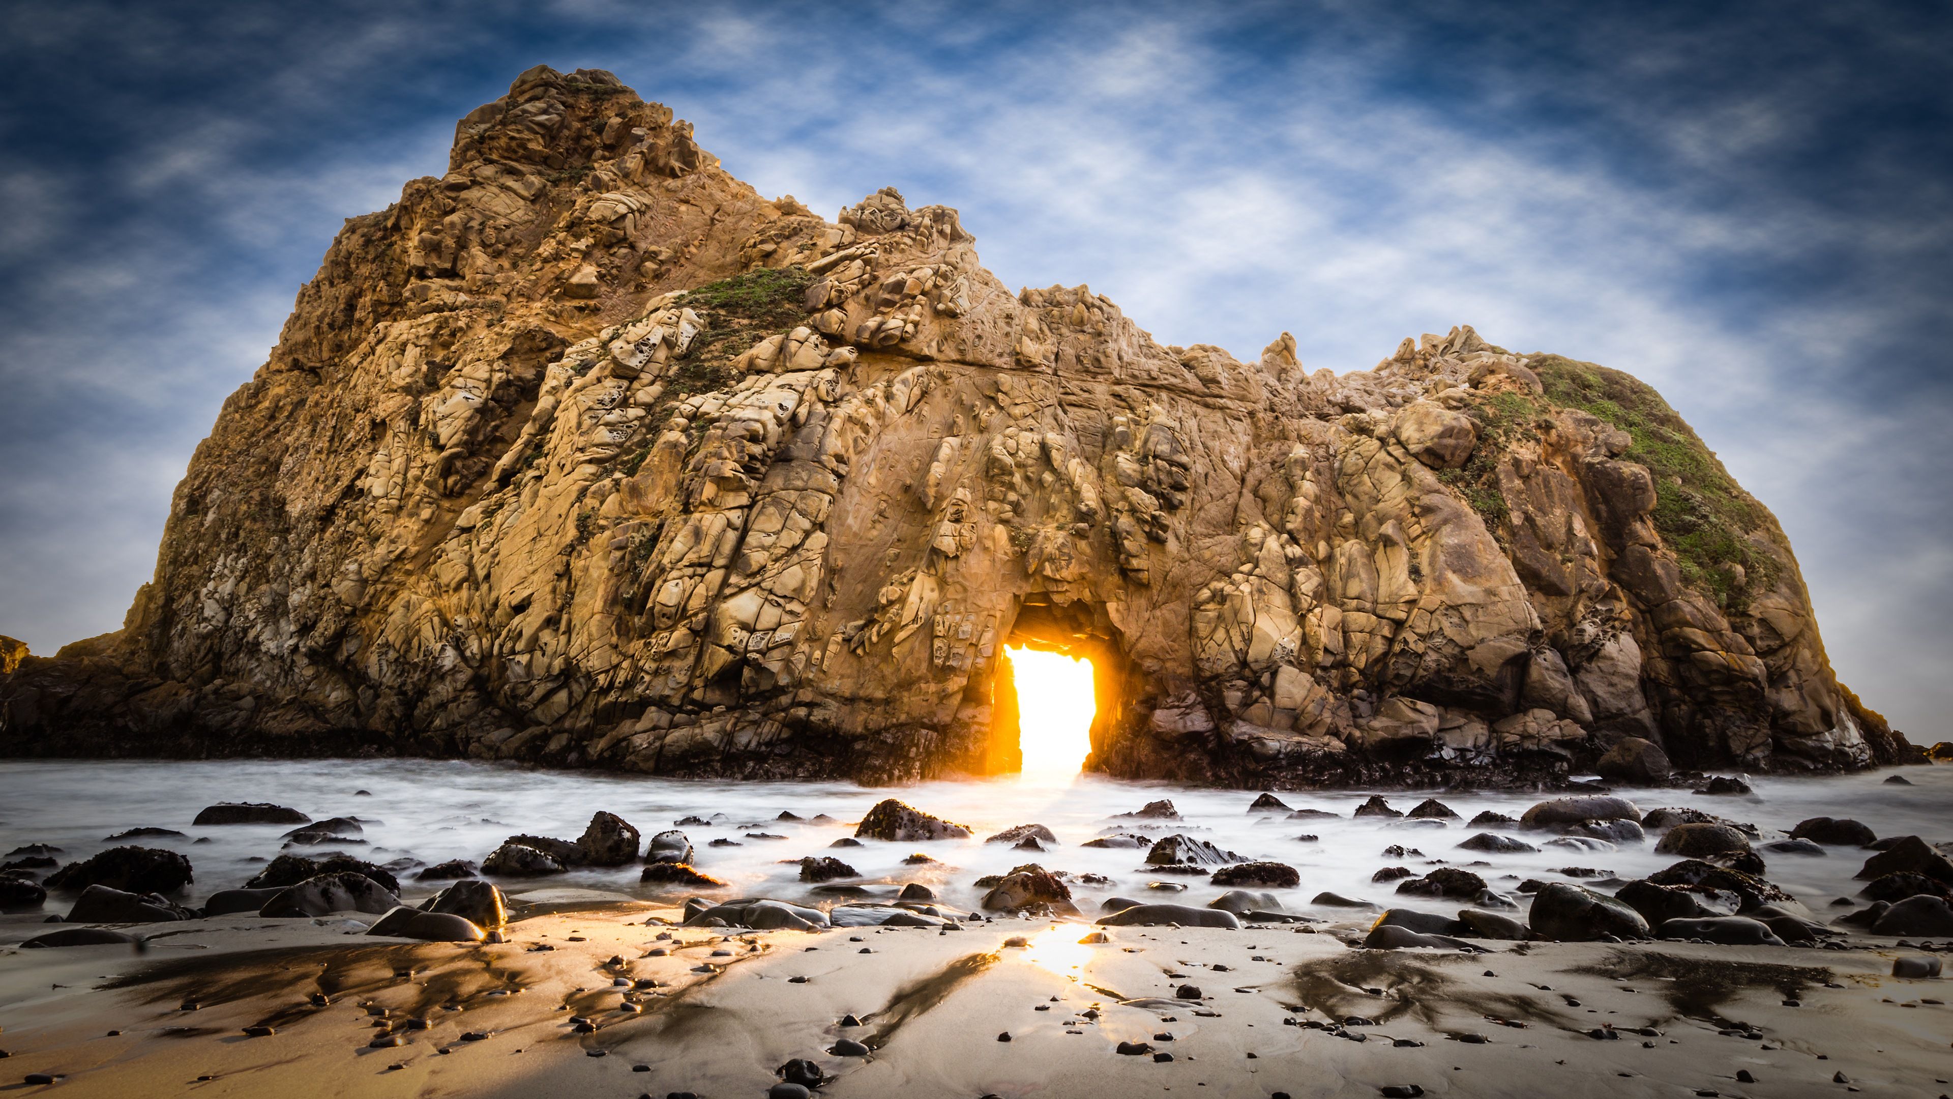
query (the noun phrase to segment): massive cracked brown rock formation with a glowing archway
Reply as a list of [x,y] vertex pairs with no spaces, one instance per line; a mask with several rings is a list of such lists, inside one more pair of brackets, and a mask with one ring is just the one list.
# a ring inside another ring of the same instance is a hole
[[1019,641],[1094,659],[1088,767],[1133,778],[1906,751],[1635,379],[1469,327],[1344,375],[1160,346],[953,209],[768,201],[545,66],[348,221],[125,628],[6,651],[0,751],[986,772]]

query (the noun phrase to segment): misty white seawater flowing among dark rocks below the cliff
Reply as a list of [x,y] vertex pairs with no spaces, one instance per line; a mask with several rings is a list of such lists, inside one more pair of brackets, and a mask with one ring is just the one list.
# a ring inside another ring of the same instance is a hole
[[[1912,784],[1887,784],[1887,774],[1904,774]],[[1752,778],[1756,796],[1715,798],[1687,790],[1623,790],[1642,810],[1693,806],[1728,819],[1750,821],[1775,839],[1797,821],[1816,815],[1855,817],[1879,835],[1920,835],[1943,841],[1953,810],[1953,767],[1908,767],[1834,778]],[[367,794],[357,794],[365,790]],[[810,888],[797,878],[799,866],[781,860],[803,855],[836,855],[861,872],[859,884],[924,882],[953,905],[975,907],[982,874],[1000,874],[1021,862],[1039,862],[1072,874],[1103,874],[1111,886],[1078,888],[1074,898],[1088,917],[1100,911],[1103,896],[1123,894],[1143,900],[1207,903],[1221,894],[1205,878],[1148,872],[1144,851],[1086,849],[1080,843],[1107,831],[1143,831],[1160,837],[1184,831],[1236,851],[1248,858],[1271,858],[1301,870],[1301,886],[1277,890],[1297,911],[1348,917],[1348,909],[1310,909],[1318,892],[1336,892],[1379,903],[1404,903],[1428,911],[1455,911],[1457,901],[1394,896],[1394,884],[1371,884],[1381,866],[1408,866],[1422,874],[1434,858],[1471,866],[1490,886],[1514,894],[1525,878],[1568,880],[1566,866],[1607,870],[1621,878],[1646,876],[1668,866],[1674,857],[1654,853],[1654,837],[1644,845],[1617,851],[1572,851],[1543,847],[1535,855],[1478,855],[1457,851],[1457,843],[1478,829],[1465,827],[1480,810],[1517,817],[1545,794],[1457,792],[1443,800],[1463,819],[1430,821],[1355,817],[1367,792],[1283,792],[1297,810],[1324,810],[1336,817],[1285,819],[1283,813],[1248,813],[1252,790],[1209,790],[1156,782],[1117,782],[1078,776],[1076,780],[994,778],[971,782],[924,782],[902,788],[865,788],[846,782],[723,782],[672,780],[631,774],[529,770],[473,761],[6,761],[0,765],[0,851],[25,843],[53,843],[61,858],[86,858],[105,847],[105,837],[129,827],[168,827],[184,837],[145,837],[121,843],[182,851],[195,866],[191,900],[215,890],[242,886],[246,878],[281,853],[289,825],[195,827],[189,821],[213,802],[275,802],[311,813],[314,819],[350,815],[365,821],[363,845],[295,847],[297,855],[320,857],[346,851],[379,864],[449,858],[480,862],[514,833],[576,839],[590,813],[607,810],[637,825],[646,837],[672,827],[686,815],[713,817],[713,827],[687,827],[697,847],[701,870],[728,882],[721,896],[775,896],[810,900]],[[1396,810],[1410,810],[1426,792],[1385,792]],[[830,843],[853,835],[853,821],[883,798],[900,798],[920,810],[965,823],[975,837],[937,843],[875,843],[830,851]],[[1111,819],[1144,802],[1170,798],[1185,817],[1178,825],[1162,821]],[[828,813],[836,823],[787,823],[781,812],[799,817]],[[982,839],[1021,823],[1043,823],[1059,835],[1059,847],[1043,855],[1012,851]],[[1517,833],[1510,827],[1490,829]],[[783,839],[752,839],[768,833]],[[1312,835],[1314,839],[1297,839]],[[709,847],[713,839],[732,839],[738,847]],[[1402,845],[1424,855],[1387,857],[1385,847]],[[906,866],[902,858],[926,851],[937,862]],[[1832,898],[1853,896],[1861,884],[1851,874],[1865,853],[1832,847],[1826,857],[1767,855],[1767,876],[1803,900],[1812,913],[1828,919]],[[439,888],[416,882],[414,862],[398,872],[406,900]],[[1184,894],[1146,892],[1148,882],[1185,884]],[[512,894],[533,888],[590,888],[676,901],[687,890],[641,886],[639,866],[578,868],[549,878],[500,882]],[[1611,890],[1609,890],[1611,892]],[[834,898],[822,900],[822,907]],[[1525,898],[1517,898],[1525,903]],[[64,905],[49,898],[49,911]]]

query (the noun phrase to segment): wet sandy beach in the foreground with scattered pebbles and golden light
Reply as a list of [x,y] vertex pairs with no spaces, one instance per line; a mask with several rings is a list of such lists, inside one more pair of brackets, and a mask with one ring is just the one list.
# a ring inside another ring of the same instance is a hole
[[[834,1097],[1939,1095],[1953,1077],[1947,982],[1891,978],[1918,952],[1892,941],[1461,954],[1351,948],[1357,923],[1082,945],[1090,925],[1019,919],[728,939],[644,901],[584,905],[519,919],[506,945],[215,917],[145,927],[143,954],[20,950],[47,927],[4,917],[0,1091],[717,1099],[766,1095],[793,1058]],[[1203,997],[1174,999],[1184,984]],[[1324,1029],[1348,1017],[1373,1025]],[[389,1033],[402,1044],[371,1046]],[[873,1052],[828,1054],[840,1038]]]

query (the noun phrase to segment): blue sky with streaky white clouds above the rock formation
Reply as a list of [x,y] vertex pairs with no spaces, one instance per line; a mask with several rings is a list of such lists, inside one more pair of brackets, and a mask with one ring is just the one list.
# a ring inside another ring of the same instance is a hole
[[344,217],[535,63],[768,196],[894,184],[1010,286],[1361,370],[1471,323],[1658,385],[1783,520],[1840,675],[1953,710],[1953,8],[10,4],[0,632],[121,624]]

